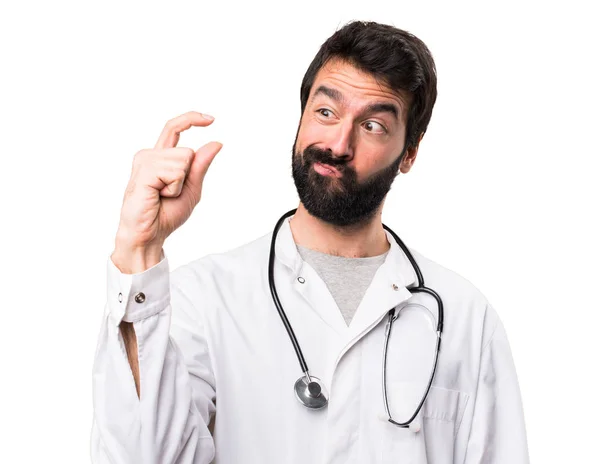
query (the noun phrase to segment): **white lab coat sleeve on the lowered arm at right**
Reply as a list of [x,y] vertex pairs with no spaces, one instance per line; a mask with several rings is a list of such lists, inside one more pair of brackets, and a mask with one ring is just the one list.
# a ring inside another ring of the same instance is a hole
[[502,321],[491,306],[493,327],[483,339],[465,464],[528,464],[529,453],[517,373]]

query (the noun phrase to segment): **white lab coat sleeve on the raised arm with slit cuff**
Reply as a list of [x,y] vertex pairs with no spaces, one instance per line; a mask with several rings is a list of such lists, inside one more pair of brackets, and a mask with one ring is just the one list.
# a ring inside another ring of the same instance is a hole
[[[207,342],[191,303],[172,286],[164,251],[161,258],[138,274],[122,274],[108,259],[107,302],[93,367],[94,463],[204,464],[214,459],[208,424],[215,413],[215,384]],[[192,353],[187,358],[170,334],[172,306],[179,340]],[[137,337],[140,398],[121,320],[133,322]]]

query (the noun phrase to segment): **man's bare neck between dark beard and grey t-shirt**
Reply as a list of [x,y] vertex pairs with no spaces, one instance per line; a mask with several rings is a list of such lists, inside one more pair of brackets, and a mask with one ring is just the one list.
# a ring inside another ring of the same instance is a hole
[[297,245],[335,256],[368,258],[390,249],[381,223],[381,208],[370,221],[339,227],[311,216],[300,203],[290,228]]

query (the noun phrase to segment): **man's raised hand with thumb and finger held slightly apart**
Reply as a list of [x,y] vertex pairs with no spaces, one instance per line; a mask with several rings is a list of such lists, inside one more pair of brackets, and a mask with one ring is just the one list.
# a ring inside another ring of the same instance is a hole
[[177,147],[179,134],[212,122],[196,111],[182,114],[166,123],[153,149],[135,154],[123,197],[116,254],[148,250],[160,254],[167,237],[190,217],[200,201],[206,171],[223,145],[209,142],[197,151]]

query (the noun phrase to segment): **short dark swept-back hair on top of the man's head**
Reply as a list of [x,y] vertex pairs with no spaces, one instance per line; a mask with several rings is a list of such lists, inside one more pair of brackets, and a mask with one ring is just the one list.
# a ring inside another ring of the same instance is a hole
[[427,130],[437,97],[435,63],[427,46],[411,33],[387,24],[346,24],[321,45],[302,79],[302,114],[317,73],[333,58],[372,74],[401,96],[408,94],[405,148],[416,146]]

